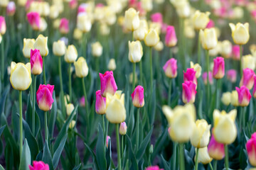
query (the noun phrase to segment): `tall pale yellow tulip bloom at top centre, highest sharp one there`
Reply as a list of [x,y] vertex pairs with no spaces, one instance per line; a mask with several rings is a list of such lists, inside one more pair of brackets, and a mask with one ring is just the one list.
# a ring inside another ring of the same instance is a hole
[[137,30],[139,28],[139,12],[134,8],[129,8],[124,13],[124,27],[127,30]]

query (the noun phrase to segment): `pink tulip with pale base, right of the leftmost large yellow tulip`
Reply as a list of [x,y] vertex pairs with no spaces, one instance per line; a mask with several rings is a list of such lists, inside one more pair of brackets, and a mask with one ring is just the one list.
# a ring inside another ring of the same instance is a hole
[[54,85],[39,85],[38,91],[36,91],[36,101],[42,111],[50,111],[53,104],[53,89]]

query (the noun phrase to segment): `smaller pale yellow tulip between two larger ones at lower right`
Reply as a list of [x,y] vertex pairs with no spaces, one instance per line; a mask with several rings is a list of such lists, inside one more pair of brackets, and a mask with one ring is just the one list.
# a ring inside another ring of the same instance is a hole
[[207,147],[210,140],[210,125],[204,119],[196,120],[191,135],[191,145],[197,148]]

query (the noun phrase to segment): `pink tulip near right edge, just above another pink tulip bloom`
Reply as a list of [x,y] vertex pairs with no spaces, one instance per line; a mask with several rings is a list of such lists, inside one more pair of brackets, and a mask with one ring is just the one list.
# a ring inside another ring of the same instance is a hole
[[242,79],[239,86],[247,86],[248,89],[252,89],[254,83],[255,72],[252,69],[246,68],[242,70]]

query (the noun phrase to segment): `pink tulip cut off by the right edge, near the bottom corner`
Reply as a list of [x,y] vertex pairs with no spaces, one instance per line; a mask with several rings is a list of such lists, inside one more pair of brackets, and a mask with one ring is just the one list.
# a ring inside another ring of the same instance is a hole
[[252,134],[250,140],[246,142],[246,151],[249,162],[252,166],[256,166],[256,132]]

